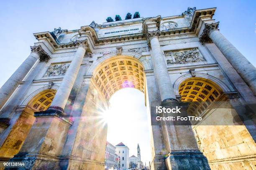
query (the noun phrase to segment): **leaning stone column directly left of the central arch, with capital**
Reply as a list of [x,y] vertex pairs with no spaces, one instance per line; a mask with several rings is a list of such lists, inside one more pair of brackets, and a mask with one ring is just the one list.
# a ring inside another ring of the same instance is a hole
[[78,42],[78,43],[79,43],[79,47],[77,48],[77,52],[72,62],[70,63],[69,68],[48,110],[57,110],[57,111],[60,111],[61,113],[64,113],[64,107],[67,104],[69,94],[72,90],[80,65],[82,64],[85,51],[88,47],[87,40],[83,42]]

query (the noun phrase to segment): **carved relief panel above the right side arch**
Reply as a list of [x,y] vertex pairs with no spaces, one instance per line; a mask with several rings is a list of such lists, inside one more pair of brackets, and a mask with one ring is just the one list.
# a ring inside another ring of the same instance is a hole
[[182,64],[187,62],[205,61],[205,58],[202,56],[198,48],[165,51],[164,55],[166,56],[166,61],[168,65],[176,63]]

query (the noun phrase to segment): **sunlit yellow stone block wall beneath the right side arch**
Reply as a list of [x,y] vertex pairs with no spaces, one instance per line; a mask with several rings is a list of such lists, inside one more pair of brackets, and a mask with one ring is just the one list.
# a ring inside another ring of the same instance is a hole
[[236,115],[234,109],[214,109],[200,125],[193,127],[212,170],[253,170],[255,167],[256,144],[245,125],[233,123]]

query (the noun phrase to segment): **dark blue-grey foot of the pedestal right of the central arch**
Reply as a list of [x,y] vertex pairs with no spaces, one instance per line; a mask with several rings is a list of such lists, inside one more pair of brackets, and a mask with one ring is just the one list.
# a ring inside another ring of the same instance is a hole
[[207,158],[199,150],[172,151],[165,162],[168,170],[210,170]]

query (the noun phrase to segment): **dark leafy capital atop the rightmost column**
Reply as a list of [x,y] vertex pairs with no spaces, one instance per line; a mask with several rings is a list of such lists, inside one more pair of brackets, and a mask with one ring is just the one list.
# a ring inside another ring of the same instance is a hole
[[202,44],[204,43],[212,43],[212,40],[210,39],[209,35],[210,33],[212,33],[215,30],[219,30],[219,23],[211,23],[211,24],[205,24],[205,29],[203,30],[201,37],[200,37],[200,41],[202,42]]

